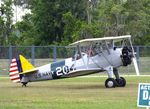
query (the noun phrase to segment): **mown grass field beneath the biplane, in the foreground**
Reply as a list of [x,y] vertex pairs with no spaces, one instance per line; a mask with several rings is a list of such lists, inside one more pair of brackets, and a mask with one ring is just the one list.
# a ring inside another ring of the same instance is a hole
[[139,109],[139,82],[150,77],[126,77],[125,88],[104,87],[104,77],[71,78],[28,84],[0,78],[0,109]]

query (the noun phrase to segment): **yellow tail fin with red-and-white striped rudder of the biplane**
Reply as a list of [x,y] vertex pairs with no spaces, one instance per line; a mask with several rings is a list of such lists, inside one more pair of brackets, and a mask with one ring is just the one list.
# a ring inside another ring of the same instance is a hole
[[22,55],[13,58],[10,63],[9,76],[15,83],[21,82],[21,76],[19,73],[33,69],[34,66]]

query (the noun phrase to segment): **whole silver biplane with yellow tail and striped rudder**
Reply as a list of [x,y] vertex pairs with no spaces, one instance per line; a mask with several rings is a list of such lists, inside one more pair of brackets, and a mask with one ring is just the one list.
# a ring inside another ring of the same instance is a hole
[[15,83],[26,86],[29,82],[77,77],[107,72],[106,88],[125,87],[126,80],[119,75],[120,66],[128,66],[133,61],[136,74],[139,75],[131,36],[115,36],[83,39],[74,42],[72,57],[34,67],[24,56],[19,55],[10,63],[9,76]]

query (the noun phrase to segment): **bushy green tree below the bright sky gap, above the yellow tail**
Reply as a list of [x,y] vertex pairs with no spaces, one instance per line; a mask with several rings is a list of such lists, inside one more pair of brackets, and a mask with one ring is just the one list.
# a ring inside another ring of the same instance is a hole
[[36,32],[32,23],[32,15],[26,14],[22,19],[22,21],[15,24],[11,42],[15,40],[16,45],[33,45]]

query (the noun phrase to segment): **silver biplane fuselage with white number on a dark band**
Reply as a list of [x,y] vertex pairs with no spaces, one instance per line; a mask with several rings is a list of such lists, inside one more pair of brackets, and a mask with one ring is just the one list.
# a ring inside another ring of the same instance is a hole
[[[71,73],[74,71],[74,75],[81,76],[92,73],[104,71],[106,67],[113,66],[115,68],[123,65],[122,48],[104,50],[103,52],[97,52],[92,55],[84,53],[78,59],[72,57],[65,60],[61,60],[54,63],[49,63],[40,67],[37,67],[38,71],[35,73],[25,74],[21,82],[33,82],[41,80],[53,80],[65,77],[72,77]],[[86,72],[76,72],[77,70],[87,69]],[[101,69],[99,71],[88,71],[88,69]]]

